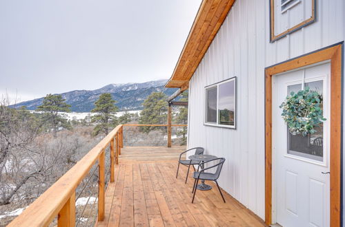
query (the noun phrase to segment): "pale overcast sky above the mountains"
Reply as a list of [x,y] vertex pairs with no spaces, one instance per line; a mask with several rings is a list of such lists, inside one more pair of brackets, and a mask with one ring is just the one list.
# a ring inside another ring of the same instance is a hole
[[0,93],[170,78],[201,0],[0,1]]

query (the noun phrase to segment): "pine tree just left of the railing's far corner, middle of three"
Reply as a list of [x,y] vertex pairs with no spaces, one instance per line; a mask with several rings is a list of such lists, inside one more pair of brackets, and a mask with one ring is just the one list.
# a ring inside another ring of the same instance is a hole
[[92,122],[97,123],[94,129],[95,136],[101,132],[108,135],[109,129],[117,125],[117,118],[114,114],[119,108],[115,105],[116,102],[110,93],[101,94],[95,102],[95,109],[92,109],[92,112],[97,113],[92,116]]

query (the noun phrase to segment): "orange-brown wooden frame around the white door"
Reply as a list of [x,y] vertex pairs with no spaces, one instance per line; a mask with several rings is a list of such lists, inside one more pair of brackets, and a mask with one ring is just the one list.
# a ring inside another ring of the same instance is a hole
[[322,61],[331,62],[330,224],[342,224],[342,83],[344,41],[265,68],[265,222],[272,224],[272,78]]

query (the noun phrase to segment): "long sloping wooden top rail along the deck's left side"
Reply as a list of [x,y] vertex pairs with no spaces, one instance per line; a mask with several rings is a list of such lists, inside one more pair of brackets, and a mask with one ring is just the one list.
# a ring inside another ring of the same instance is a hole
[[72,193],[75,192],[78,184],[88,174],[88,171],[95,164],[103,149],[108,146],[121,127],[122,125],[115,127],[8,226],[48,226],[63,205],[66,204]]

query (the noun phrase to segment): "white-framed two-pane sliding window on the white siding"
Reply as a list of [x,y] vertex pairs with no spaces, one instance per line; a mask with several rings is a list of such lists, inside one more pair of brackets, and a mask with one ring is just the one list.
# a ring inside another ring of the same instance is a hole
[[236,127],[236,78],[205,88],[205,125]]

